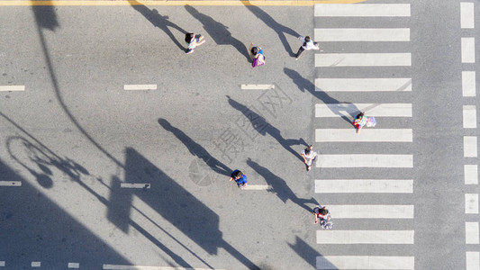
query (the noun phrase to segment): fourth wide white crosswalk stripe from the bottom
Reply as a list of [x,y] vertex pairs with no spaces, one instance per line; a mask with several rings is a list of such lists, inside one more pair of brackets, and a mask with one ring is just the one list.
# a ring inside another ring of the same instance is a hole
[[413,180],[315,180],[315,193],[413,193]]

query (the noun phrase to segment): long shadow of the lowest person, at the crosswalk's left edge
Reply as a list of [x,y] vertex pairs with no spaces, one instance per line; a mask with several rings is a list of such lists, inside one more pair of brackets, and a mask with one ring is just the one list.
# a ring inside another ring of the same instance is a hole
[[314,199],[302,199],[299,198],[295,193],[288,187],[285,180],[278,177],[274,173],[270,172],[266,167],[260,166],[257,162],[251,160],[251,158],[247,159],[247,165],[254,169],[258,175],[261,175],[267,184],[270,185],[272,188],[269,189],[269,192],[275,193],[278,199],[282,202],[286,202],[288,200],[298,204],[304,210],[312,212],[312,208],[307,205],[307,203],[312,203],[313,205],[317,205],[318,202]]

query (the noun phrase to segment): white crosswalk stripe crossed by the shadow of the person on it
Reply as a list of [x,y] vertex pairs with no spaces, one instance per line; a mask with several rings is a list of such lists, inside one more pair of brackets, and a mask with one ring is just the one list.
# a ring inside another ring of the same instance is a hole
[[[412,117],[411,103],[332,103],[315,104],[315,117],[355,117],[366,112],[375,117]],[[353,119],[352,119],[353,121]]]

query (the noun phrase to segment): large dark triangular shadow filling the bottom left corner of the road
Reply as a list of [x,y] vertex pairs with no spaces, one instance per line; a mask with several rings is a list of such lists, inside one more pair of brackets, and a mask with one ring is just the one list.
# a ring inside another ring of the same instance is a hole
[[5,230],[0,233],[0,255],[5,262],[2,268],[31,269],[32,261],[41,260],[42,269],[65,269],[67,259],[84,269],[102,269],[105,258],[116,264],[131,264],[2,159],[0,181],[22,183],[0,187],[0,224]]

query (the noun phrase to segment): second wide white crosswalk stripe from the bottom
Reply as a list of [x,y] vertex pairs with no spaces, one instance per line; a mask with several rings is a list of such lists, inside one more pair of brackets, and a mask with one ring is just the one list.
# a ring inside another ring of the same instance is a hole
[[413,244],[413,230],[317,230],[317,244]]

